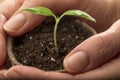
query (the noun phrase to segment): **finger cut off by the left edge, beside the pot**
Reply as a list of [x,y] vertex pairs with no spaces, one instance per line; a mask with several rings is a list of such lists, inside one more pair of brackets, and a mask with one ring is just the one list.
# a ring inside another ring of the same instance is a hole
[[6,19],[3,15],[0,15],[0,66],[3,65],[6,59],[6,42],[5,42],[5,32],[3,30],[3,24]]

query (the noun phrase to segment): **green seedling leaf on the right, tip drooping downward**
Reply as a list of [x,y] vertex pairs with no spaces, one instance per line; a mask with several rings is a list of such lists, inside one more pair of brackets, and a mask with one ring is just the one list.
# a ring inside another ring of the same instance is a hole
[[93,17],[91,17],[89,14],[81,10],[68,10],[62,16],[64,15],[79,16],[79,17],[86,18],[88,20],[96,22],[96,20]]

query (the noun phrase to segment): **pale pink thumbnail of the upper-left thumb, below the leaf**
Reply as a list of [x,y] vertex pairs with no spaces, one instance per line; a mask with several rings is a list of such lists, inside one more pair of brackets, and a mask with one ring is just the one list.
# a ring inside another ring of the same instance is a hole
[[10,32],[18,31],[20,28],[22,28],[22,26],[24,26],[25,22],[26,18],[24,14],[17,14],[8,22],[6,22],[6,24],[4,25],[4,29]]

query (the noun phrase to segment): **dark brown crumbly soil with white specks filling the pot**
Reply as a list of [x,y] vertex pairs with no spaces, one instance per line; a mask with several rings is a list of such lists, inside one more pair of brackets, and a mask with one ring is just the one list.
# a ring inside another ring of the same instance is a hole
[[13,39],[13,53],[27,66],[46,71],[63,69],[63,59],[78,44],[93,35],[79,19],[64,17],[57,29],[58,53],[53,41],[54,19],[49,17],[40,26]]

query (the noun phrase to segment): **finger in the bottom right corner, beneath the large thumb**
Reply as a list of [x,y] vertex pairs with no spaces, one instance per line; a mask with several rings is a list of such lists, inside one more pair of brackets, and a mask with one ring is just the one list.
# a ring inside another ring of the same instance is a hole
[[80,80],[119,80],[120,79],[120,56],[103,66],[76,76]]

